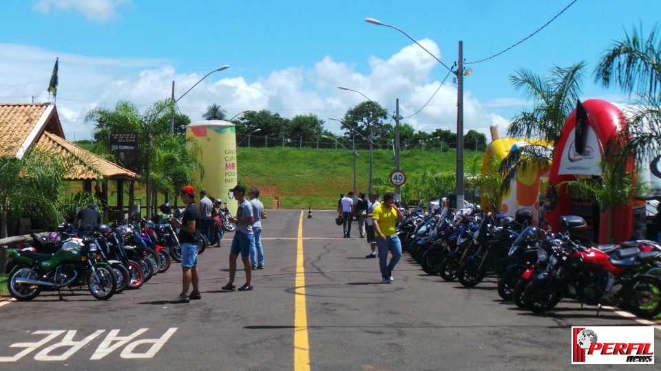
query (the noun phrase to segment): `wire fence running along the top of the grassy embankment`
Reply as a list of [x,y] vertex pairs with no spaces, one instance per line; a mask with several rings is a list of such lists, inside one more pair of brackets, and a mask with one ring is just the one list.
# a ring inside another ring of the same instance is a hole
[[[244,148],[273,148],[273,147],[287,147],[287,148],[317,148],[317,149],[346,149],[351,151],[353,148],[356,150],[368,150],[370,145],[366,141],[351,142],[344,138],[330,139],[327,137],[318,137],[317,139],[310,140],[304,137],[268,137],[258,135],[237,135],[236,137],[239,147]],[[464,140],[463,148],[466,150],[485,150],[484,142],[475,140]],[[355,147],[354,147],[355,146]],[[395,141],[392,139],[378,140],[374,142],[373,149],[394,150]],[[436,150],[440,152],[447,152],[450,149],[457,148],[457,142],[439,142],[437,140],[427,142],[409,142],[403,140],[399,142],[400,150]]]

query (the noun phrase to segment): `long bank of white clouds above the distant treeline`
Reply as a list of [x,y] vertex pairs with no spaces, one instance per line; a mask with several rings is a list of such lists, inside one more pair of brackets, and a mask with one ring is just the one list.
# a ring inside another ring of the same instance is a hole
[[[432,41],[420,43],[435,55],[440,54]],[[0,101],[30,102],[31,95],[36,95],[36,101],[48,100],[45,89],[55,56],[50,50],[0,44],[0,91],[3,92]],[[171,97],[173,80],[175,98],[179,98],[204,76],[177,74],[168,61],[156,58],[110,59],[68,54],[59,57],[56,103],[67,139],[73,139],[74,132],[76,139],[91,137],[94,124],[83,123],[83,118],[95,106],[112,109],[119,100],[129,100],[145,109]],[[456,131],[457,88],[452,84],[453,75],[439,89],[441,81],[433,80],[430,75],[440,66],[426,52],[417,45],[409,45],[386,60],[372,57],[369,63],[370,71],[361,74],[354,65],[326,56],[311,69],[288,67],[253,81],[235,76],[230,68],[205,78],[178,101],[178,106],[192,121],[202,120],[207,106],[214,103],[222,106],[229,117],[260,109],[283,117],[312,113],[326,122],[328,130],[339,133],[339,123],[328,117],[342,117],[365,100],[353,91],[337,89],[338,85],[344,85],[379,102],[392,115],[395,98],[399,98],[400,115],[407,117],[402,122],[417,130]],[[490,112],[493,102],[479,102],[470,91],[465,91],[464,97],[465,131],[474,129],[490,138],[489,126],[499,123],[503,133],[507,120]],[[428,100],[427,106],[413,115]]]

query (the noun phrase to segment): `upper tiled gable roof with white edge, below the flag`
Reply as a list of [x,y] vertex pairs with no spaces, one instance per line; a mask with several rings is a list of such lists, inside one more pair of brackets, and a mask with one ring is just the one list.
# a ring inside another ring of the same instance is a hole
[[64,137],[54,104],[0,104],[0,155],[21,157],[43,131]]

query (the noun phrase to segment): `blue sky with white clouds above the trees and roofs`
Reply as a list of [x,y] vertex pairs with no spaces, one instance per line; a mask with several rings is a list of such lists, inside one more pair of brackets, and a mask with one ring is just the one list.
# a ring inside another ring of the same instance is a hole
[[[406,36],[364,21],[371,17],[408,33],[445,65],[481,60],[538,30],[571,0],[511,1],[138,1],[5,0],[0,2],[0,102],[48,101],[46,88],[59,57],[57,107],[67,139],[89,139],[84,122],[96,106],[130,100],[146,108],[179,98],[192,121],[209,104],[229,117],[269,109],[284,117],[312,113],[339,133],[342,117],[364,100],[361,91],[394,113],[418,111],[448,73]],[[583,99],[627,102],[617,89],[594,83],[594,67],[613,41],[634,27],[647,35],[658,23],[658,0],[578,0],[543,30],[509,51],[466,65],[464,128],[501,135],[532,104],[510,75],[544,76],[553,65],[587,63]],[[417,130],[456,131],[457,87],[452,75],[430,103],[403,122]]]

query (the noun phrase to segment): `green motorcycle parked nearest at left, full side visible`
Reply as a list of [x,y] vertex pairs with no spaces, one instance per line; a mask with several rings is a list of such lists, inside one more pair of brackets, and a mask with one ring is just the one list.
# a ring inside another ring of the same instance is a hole
[[70,238],[53,254],[9,249],[5,269],[9,293],[27,301],[43,289],[59,292],[63,287],[86,285],[96,299],[108,300],[115,293],[117,277],[112,267],[99,261],[97,249],[90,237]]

